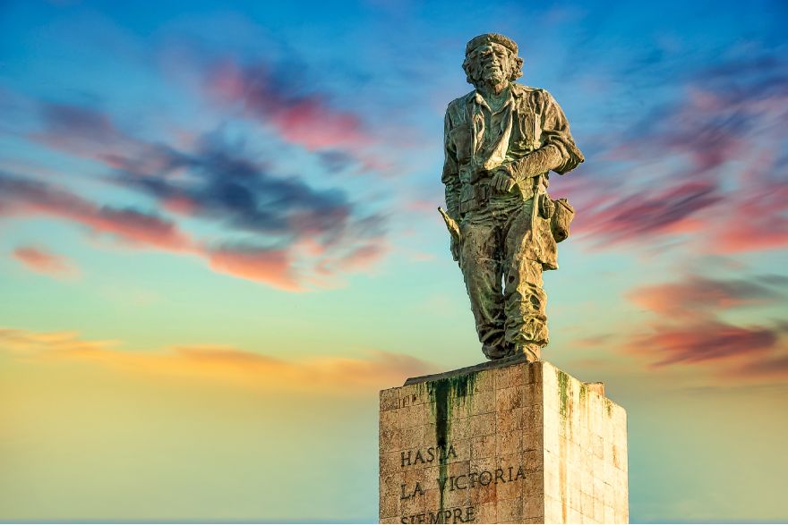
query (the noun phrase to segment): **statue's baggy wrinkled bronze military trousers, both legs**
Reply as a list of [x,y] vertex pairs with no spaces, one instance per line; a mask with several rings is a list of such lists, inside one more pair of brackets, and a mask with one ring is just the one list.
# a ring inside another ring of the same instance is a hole
[[460,221],[459,266],[482,351],[500,359],[547,344],[542,264],[527,258],[534,199],[497,195]]

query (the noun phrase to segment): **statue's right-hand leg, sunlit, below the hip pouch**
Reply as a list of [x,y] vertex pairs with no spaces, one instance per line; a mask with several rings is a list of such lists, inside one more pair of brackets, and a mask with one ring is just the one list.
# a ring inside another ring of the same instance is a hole
[[531,203],[512,214],[505,232],[504,309],[506,342],[531,360],[540,358],[548,343],[547,295],[542,283],[542,263],[533,260],[531,239]]

